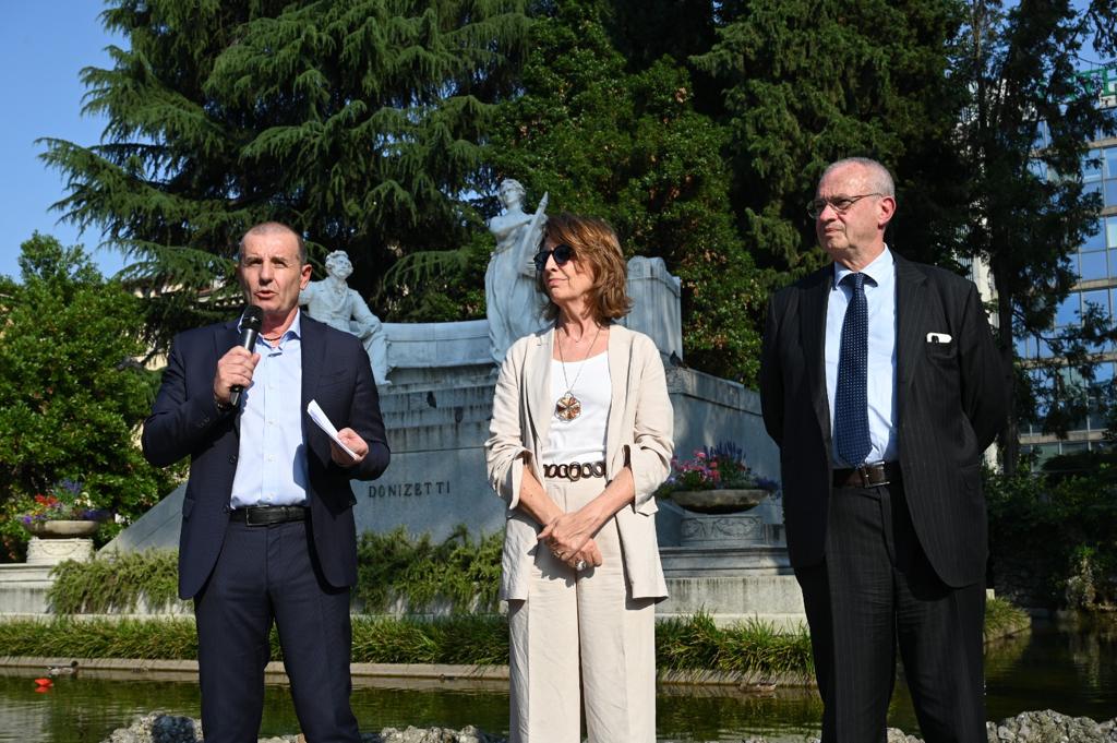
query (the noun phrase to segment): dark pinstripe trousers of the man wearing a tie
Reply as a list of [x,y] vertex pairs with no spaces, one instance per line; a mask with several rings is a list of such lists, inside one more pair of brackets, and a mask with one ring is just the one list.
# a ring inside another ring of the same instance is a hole
[[823,702],[823,743],[886,740],[896,647],[927,743],[985,743],[985,585],[927,561],[903,483],[834,488],[825,558],[795,571]]

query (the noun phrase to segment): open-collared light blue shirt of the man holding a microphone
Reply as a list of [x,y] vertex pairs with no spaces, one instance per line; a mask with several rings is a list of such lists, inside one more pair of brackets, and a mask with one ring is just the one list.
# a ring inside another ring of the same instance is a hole
[[303,441],[302,315],[275,346],[256,339],[260,362],[241,393],[240,453],[232,480],[233,508],[306,505]]

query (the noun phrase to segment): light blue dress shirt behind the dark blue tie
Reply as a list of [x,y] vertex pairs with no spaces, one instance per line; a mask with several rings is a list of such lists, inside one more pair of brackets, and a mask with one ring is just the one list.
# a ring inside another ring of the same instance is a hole
[[[834,283],[827,303],[827,398],[830,404],[830,436],[833,439],[834,391],[838,388],[838,354],[841,346],[841,324],[853,294],[841,283],[852,274],[834,264]],[[869,441],[871,448],[865,461],[842,463],[833,450],[834,463],[856,467],[877,461],[895,461],[899,456],[896,437],[896,261],[891,251],[884,253],[862,270],[866,275],[865,299],[869,308]]]

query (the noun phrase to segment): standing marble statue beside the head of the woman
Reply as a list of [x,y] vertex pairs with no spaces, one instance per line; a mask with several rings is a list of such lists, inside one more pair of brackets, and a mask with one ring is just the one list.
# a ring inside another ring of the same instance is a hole
[[543,238],[546,220],[543,194],[534,215],[523,209],[524,187],[504,180],[498,192],[505,212],[489,220],[496,248],[485,270],[485,315],[489,322],[489,347],[499,364],[516,339],[543,327],[542,301],[535,290],[535,265],[532,258]]

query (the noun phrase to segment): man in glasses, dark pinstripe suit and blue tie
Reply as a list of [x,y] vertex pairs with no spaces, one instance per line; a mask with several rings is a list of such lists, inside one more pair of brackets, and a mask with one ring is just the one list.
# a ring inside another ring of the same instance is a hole
[[831,164],[833,264],[768,305],[761,402],[811,628],[824,743],[885,741],[896,647],[928,743],[985,741],[982,453],[1006,388],[974,285],[885,244],[892,179]]

